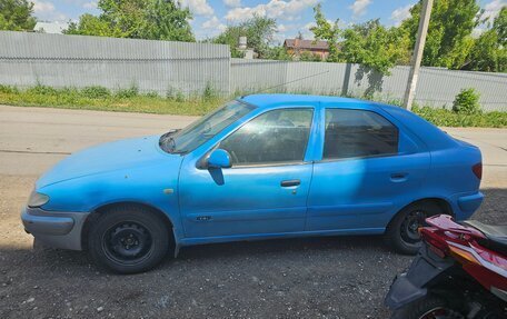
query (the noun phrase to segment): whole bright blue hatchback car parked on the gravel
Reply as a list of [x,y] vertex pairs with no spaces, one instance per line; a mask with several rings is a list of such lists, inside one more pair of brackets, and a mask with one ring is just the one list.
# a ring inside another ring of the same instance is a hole
[[71,154],[37,181],[22,221],[122,273],[183,246],[281,237],[385,235],[414,253],[425,217],[474,213],[480,178],[478,148],[401,108],[255,94]]

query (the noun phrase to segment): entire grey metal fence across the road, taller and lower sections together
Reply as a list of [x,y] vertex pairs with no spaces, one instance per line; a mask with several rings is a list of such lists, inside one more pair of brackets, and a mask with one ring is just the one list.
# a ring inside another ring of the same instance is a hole
[[[0,31],[0,83],[31,87],[136,86],[142,92],[221,94],[269,91],[372,96],[401,100],[408,67],[389,76],[352,63],[230,59],[229,48],[210,43],[113,39]],[[480,93],[484,110],[507,111],[507,74],[421,68],[416,102],[453,104],[464,88]]]

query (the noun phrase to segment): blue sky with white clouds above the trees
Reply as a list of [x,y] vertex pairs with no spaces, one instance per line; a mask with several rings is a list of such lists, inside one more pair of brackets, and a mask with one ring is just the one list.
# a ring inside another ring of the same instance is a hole
[[[34,14],[42,21],[78,20],[83,13],[99,14],[97,0],[32,0]],[[314,22],[312,8],[321,3],[327,19],[339,19],[341,26],[380,18],[386,26],[397,26],[409,17],[417,0],[179,0],[193,13],[190,21],[196,38],[201,40],[220,33],[252,14],[275,18],[278,24],[276,42],[295,38],[301,32],[310,39]],[[494,18],[507,6],[507,0],[479,0],[486,16]]]

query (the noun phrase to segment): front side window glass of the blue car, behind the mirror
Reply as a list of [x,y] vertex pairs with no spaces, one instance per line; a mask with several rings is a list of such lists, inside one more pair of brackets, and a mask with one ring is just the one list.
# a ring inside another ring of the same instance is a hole
[[227,137],[219,148],[229,152],[232,167],[301,162],[312,118],[312,109],[268,111]]

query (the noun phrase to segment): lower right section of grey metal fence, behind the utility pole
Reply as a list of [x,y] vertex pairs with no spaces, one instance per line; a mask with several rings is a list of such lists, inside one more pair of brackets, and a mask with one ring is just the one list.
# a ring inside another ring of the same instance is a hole
[[[232,59],[232,92],[267,90],[317,94],[370,96],[401,101],[409,67],[395,67],[381,76],[360,64],[258,61]],[[450,108],[461,89],[474,88],[485,111],[507,111],[507,74],[421,68],[416,103]]]

